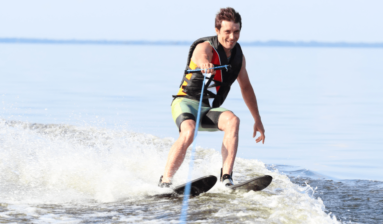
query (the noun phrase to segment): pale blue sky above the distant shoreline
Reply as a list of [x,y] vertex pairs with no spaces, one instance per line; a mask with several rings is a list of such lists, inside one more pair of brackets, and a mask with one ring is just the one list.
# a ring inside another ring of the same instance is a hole
[[193,41],[227,6],[241,41],[383,42],[382,0],[0,0],[0,38]]

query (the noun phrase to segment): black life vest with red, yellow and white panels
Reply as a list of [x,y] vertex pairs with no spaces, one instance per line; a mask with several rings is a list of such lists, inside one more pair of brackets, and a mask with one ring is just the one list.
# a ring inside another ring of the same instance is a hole
[[[231,84],[237,79],[242,67],[242,49],[238,43],[231,50],[230,61],[227,60],[226,53],[218,41],[217,36],[202,37],[194,41],[189,50],[186,70],[199,69],[194,63],[191,64],[193,51],[197,44],[208,41],[213,47],[213,57],[211,63],[214,67],[220,65],[231,65],[231,69],[216,70],[215,75],[206,76],[205,88],[203,89],[202,102],[210,105],[212,108],[220,107],[225,101],[230,91]],[[192,67],[194,68],[192,68]],[[184,74],[181,81],[180,90],[173,97],[185,97],[189,99],[200,99],[202,90],[203,75],[201,72]]]

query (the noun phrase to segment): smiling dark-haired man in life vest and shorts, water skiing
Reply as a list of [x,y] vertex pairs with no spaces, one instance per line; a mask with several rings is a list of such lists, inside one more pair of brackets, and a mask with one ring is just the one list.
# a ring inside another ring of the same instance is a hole
[[[241,16],[231,7],[221,8],[215,17],[216,36],[196,40],[189,51],[187,69],[205,70],[206,86],[203,91],[201,119],[198,130],[224,131],[222,142],[222,169],[220,181],[229,186],[233,184],[232,169],[238,148],[239,118],[233,112],[220,108],[237,80],[246,106],[254,118],[254,133],[261,136],[256,142],[264,143],[265,135],[257,100],[246,71],[246,61],[237,43],[242,28]],[[231,65],[228,71],[214,71],[214,65]],[[180,137],[170,149],[160,187],[170,187],[171,180],[184,161],[187,148],[192,144],[198,104],[202,89],[202,73],[185,74],[180,90],[172,103],[172,114]]]

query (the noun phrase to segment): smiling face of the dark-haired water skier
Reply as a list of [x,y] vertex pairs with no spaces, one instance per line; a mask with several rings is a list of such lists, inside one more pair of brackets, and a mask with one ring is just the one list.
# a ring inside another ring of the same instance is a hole
[[218,35],[218,41],[225,49],[233,49],[239,39],[239,22],[222,21],[221,29],[215,28]]

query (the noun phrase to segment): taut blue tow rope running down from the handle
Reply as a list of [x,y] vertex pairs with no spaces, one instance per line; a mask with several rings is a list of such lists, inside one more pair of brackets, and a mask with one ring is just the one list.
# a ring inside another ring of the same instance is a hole
[[[203,96],[203,89],[205,87],[205,80],[206,80],[206,70],[203,76],[203,82],[202,82],[202,91],[201,91],[201,97],[199,99],[199,105],[198,105],[198,113],[197,113],[197,120],[195,122],[195,130],[194,130],[194,137],[193,137],[193,143],[192,143],[192,154],[190,156],[190,164],[189,164],[189,174],[188,174],[188,181],[190,182],[192,180],[192,169],[193,169],[193,163],[194,163],[194,153],[195,153],[195,138],[197,137],[198,132],[198,125],[199,125],[199,117],[201,113],[201,105],[202,105],[202,96]],[[186,217],[188,215],[188,206],[189,206],[189,195],[190,195],[190,189],[192,185],[189,183],[185,187],[184,191],[184,200],[182,202],[182,210],[181,210],[181,217],[180,217],[180,223],[186,222]]]

